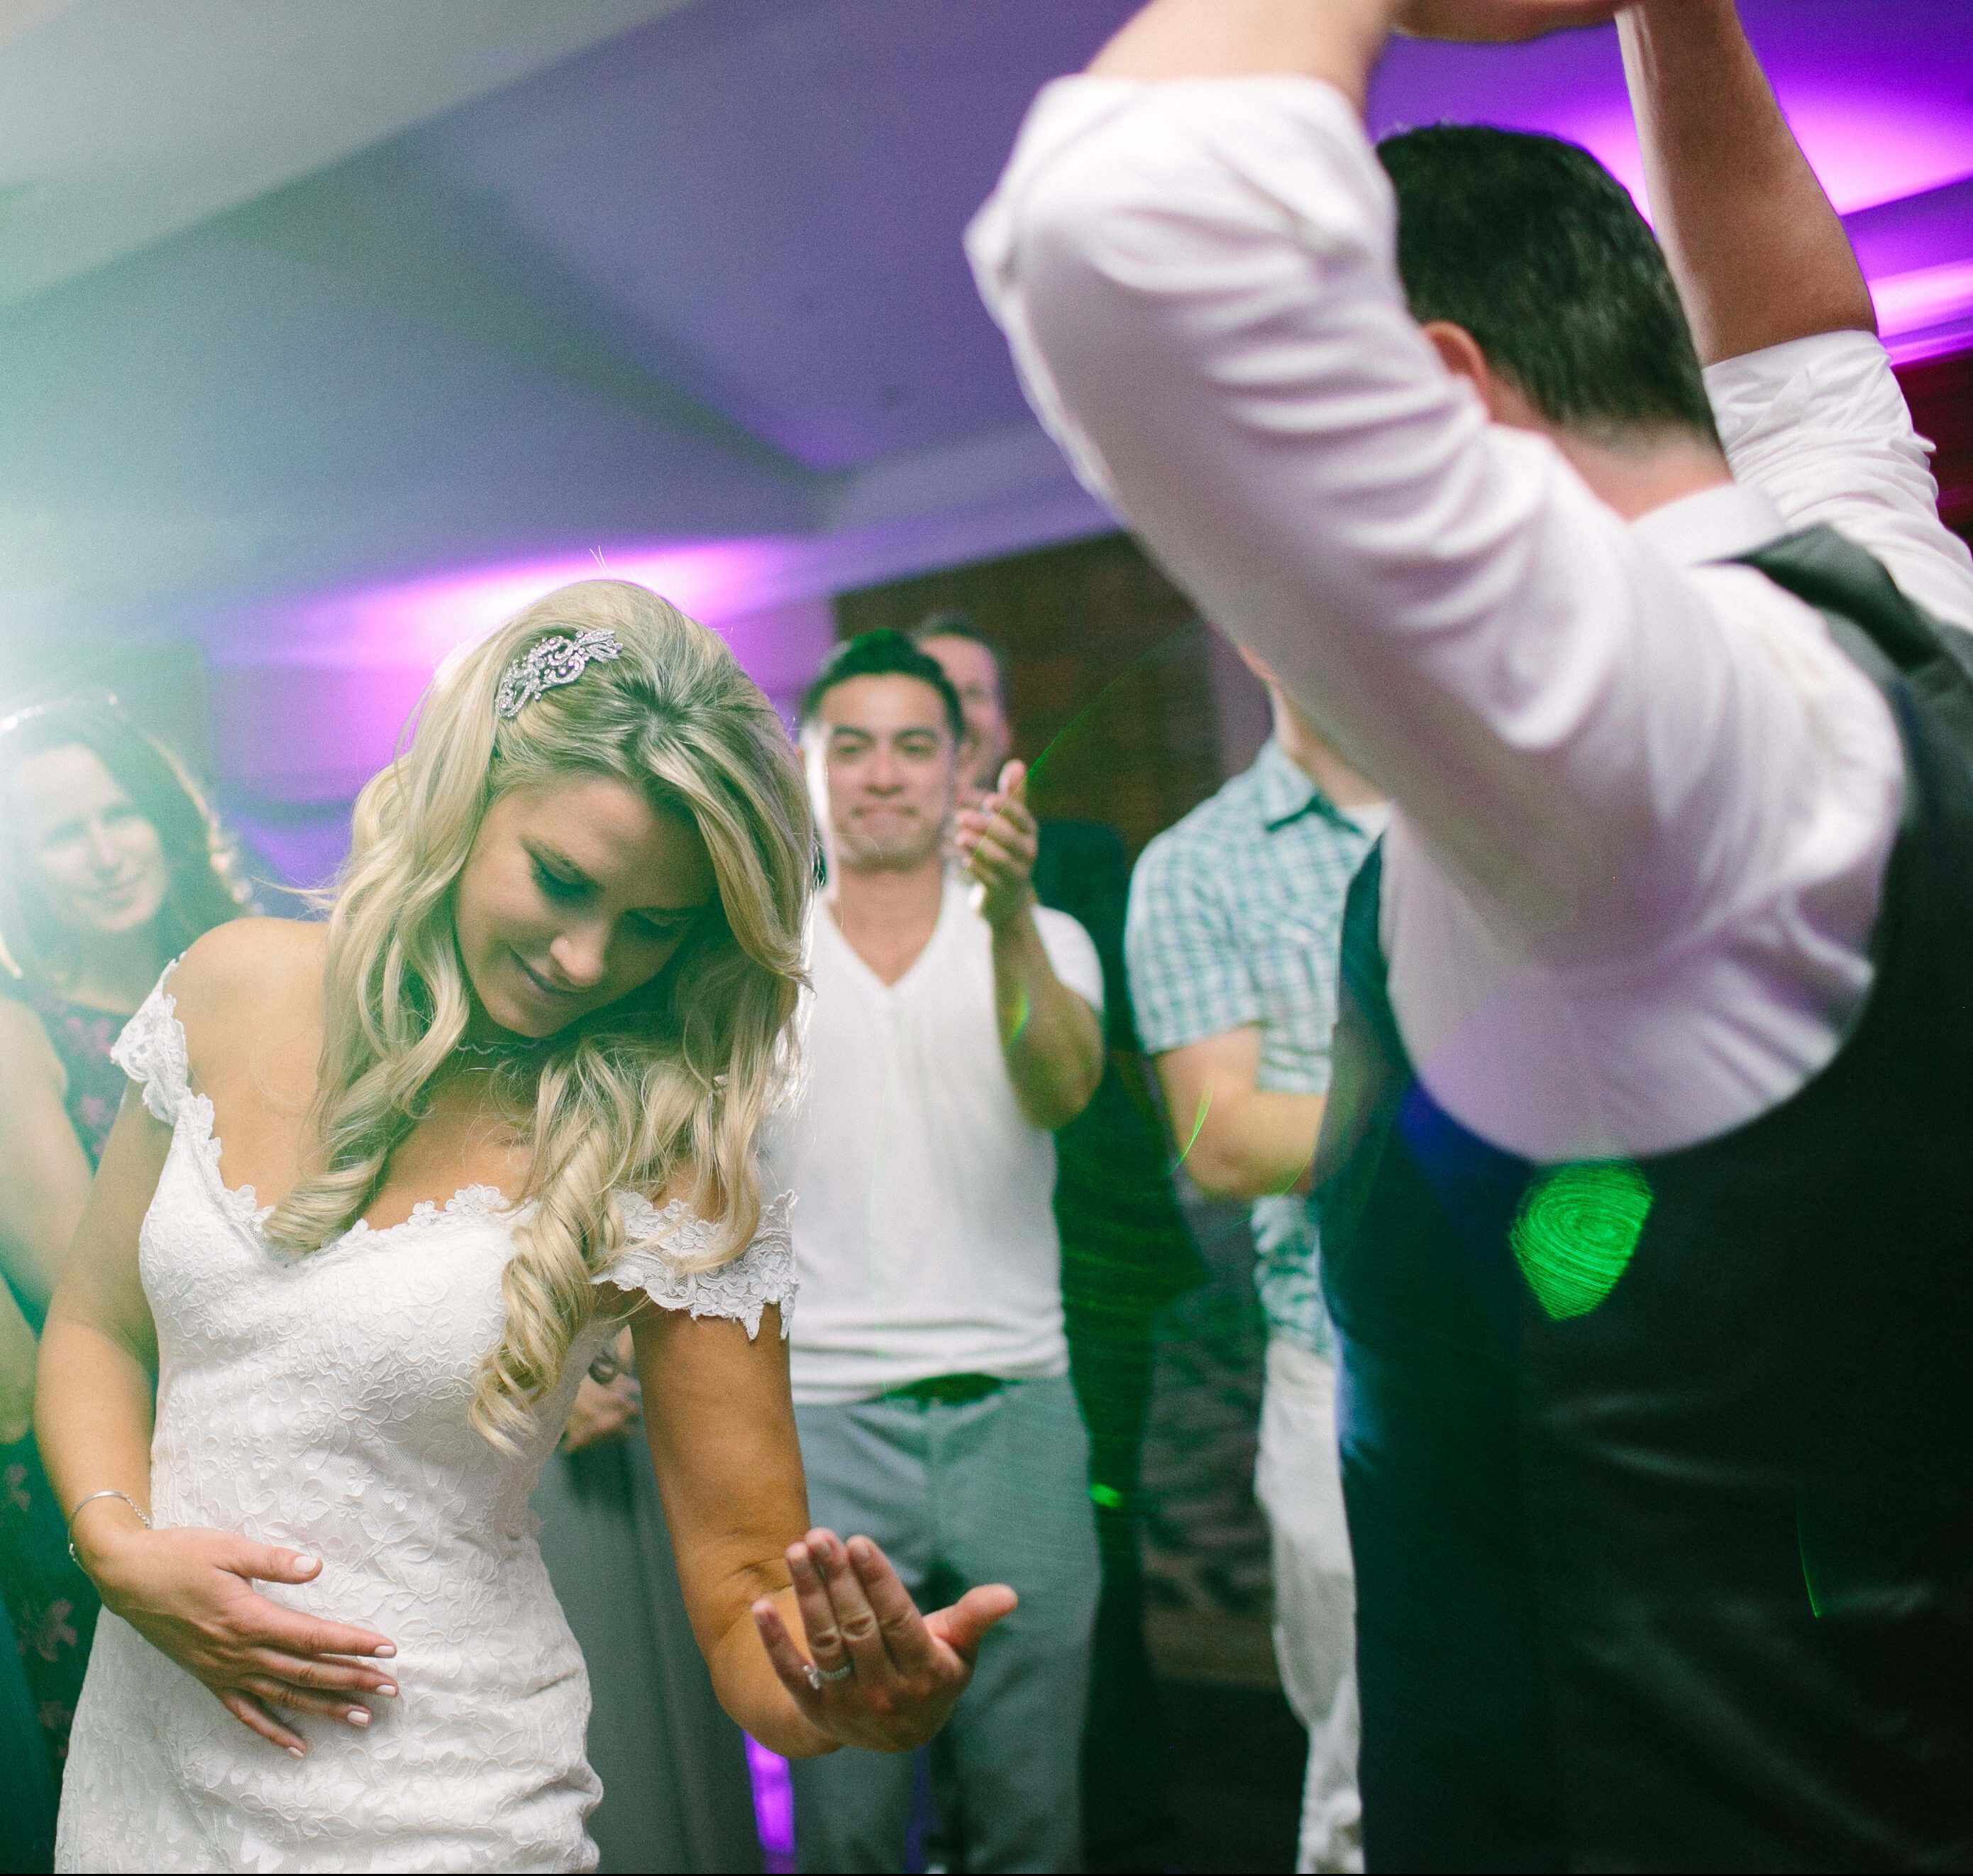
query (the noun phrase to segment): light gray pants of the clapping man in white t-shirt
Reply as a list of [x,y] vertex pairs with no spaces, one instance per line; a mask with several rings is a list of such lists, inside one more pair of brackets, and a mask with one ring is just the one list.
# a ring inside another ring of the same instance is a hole
[[[795,1420],[809,1517],[876,1538],[919,1607],[973,1584],[1020,1592],[935,1742],[961,1813],[947,1825],[981,1876],[1081,1868],[1097,1536],[1067,1378],[1008,1382],[967,1406],[860,1400],[795,1408]],[[789,1769],[803,1870],[904,1868],[912,1754],[846,1748]]]

